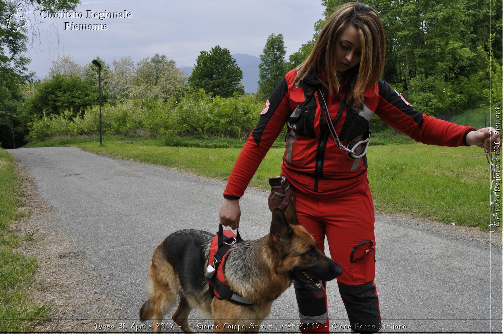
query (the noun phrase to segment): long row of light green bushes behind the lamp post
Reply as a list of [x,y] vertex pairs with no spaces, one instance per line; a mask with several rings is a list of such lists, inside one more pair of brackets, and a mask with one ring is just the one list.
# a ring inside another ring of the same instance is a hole
[[[151,136],[220,136],[244,140],[257,124],[263,102],[254,96],[211,97],[204,90],[177,101],[129,100],[121,104],[104,104],[101,108],[104,134]],[[82,118],[44,115],[30,124],[29,141],[57,135],[96,134],[99,132],[100,107],[85,111]],[[171,140],[171,139],[170,139]]]

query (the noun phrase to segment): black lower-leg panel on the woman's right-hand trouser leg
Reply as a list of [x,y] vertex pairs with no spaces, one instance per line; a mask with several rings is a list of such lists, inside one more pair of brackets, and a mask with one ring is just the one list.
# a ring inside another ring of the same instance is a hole
[[375,333],[381,329],[379,297],[373,282],[362,285],[339,283],[339,292],[354,331]]

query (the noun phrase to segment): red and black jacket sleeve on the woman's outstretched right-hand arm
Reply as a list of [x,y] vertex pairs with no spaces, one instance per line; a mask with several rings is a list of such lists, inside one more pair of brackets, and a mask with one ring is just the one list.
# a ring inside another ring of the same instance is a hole
[[467,146],[466,135],[475,128],[437,119],[415,110],[387,82],[379,81],[379,103],[375,112],[384,123],[424,144]]

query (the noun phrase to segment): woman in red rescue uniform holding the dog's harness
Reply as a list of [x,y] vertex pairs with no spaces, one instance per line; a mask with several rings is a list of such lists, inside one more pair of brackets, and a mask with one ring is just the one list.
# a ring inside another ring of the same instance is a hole
[[[412,108],[380,80],[385,50],[384,28],[375,10],[361,3],[339,6],[306,61],[288,72],[267,100],[236,160],[220,208],[220,224],[239,227],[238,200],[286,123],[282,175],[295,188],[299,223],[322,250],[326,235],[332,259],[343,268],[339,291],[351,328],[359,333],[381,331],[365,155],[370,118],[377,114],[426,144],[477,145],[492,151],[499,143],[492,128],[477,131]],[[326,296],[315,296],[298,282],[294,287],[301,331],[329,332]]]

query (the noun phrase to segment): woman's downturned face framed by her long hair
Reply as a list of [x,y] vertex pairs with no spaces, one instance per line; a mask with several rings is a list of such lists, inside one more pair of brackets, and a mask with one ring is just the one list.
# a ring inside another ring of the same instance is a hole
[[358,30],[352,24],[348,25],[336,40],[337,70],[344,73],[358,65],[362,57],[362,45]]

